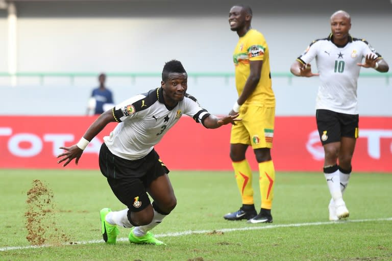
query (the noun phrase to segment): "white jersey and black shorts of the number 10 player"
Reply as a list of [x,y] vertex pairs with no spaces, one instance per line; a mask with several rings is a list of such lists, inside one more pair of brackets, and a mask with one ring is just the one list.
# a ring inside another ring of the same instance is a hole
[[357,81],[366,55],[381,55],[364,39],[348,36],[346,45],[333,43],[333,35],[314,40],[298,57],[305,65],[316,59],[321,84],[316,98],[318,133],[324,144],[341,137],[358,138]]

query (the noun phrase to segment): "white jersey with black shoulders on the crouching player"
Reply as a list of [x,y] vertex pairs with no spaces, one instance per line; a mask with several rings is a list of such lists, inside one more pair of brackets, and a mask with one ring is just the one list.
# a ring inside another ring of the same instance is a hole
[[[104,142],[120,158],[141,159],[153,150],[154,145],[183,114],[202,124],[210,115],[189,94],[174,108],[167,108],[163,103],[162,88],[138,94],[113,108],[113,116],[119,124],[110,136],[104,137]],[[179,137],[184,138],[185,136]]]

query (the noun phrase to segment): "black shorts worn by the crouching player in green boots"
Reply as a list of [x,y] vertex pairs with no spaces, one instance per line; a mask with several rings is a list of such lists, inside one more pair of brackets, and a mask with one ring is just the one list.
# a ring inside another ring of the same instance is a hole
[[139,212],[151,204],[146,189],[153,180],[169,173],[154,149],[144,158],[130,161],[112,154],[103,143],[99,161],[114,195],[131,212]]

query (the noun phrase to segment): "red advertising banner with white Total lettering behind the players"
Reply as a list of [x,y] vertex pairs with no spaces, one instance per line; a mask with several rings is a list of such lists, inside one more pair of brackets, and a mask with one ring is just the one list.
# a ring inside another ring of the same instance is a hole
[[[60,146],[79,141],[95,116],[0,116],[0,168],[58,169]],[[98,153],[109,124],[85,149],[79,165],[66,168],[99,169]],[[184,116],[156,146],[171,170],[231,170],[230,125],[206,129]],[[353,158],[356,172],[392,172],[392,117],[360,117]],[[251,167],[257,163],[251,148]],[[276,117],[272,156],[277,171],[322,171],[324,151],[315,119]]]

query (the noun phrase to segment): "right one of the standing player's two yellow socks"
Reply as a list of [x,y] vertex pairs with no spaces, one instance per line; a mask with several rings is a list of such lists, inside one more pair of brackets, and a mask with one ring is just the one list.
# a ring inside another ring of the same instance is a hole
[[273,161],[259,163],[261,208],[271,210],[274,199],[275,168]]

